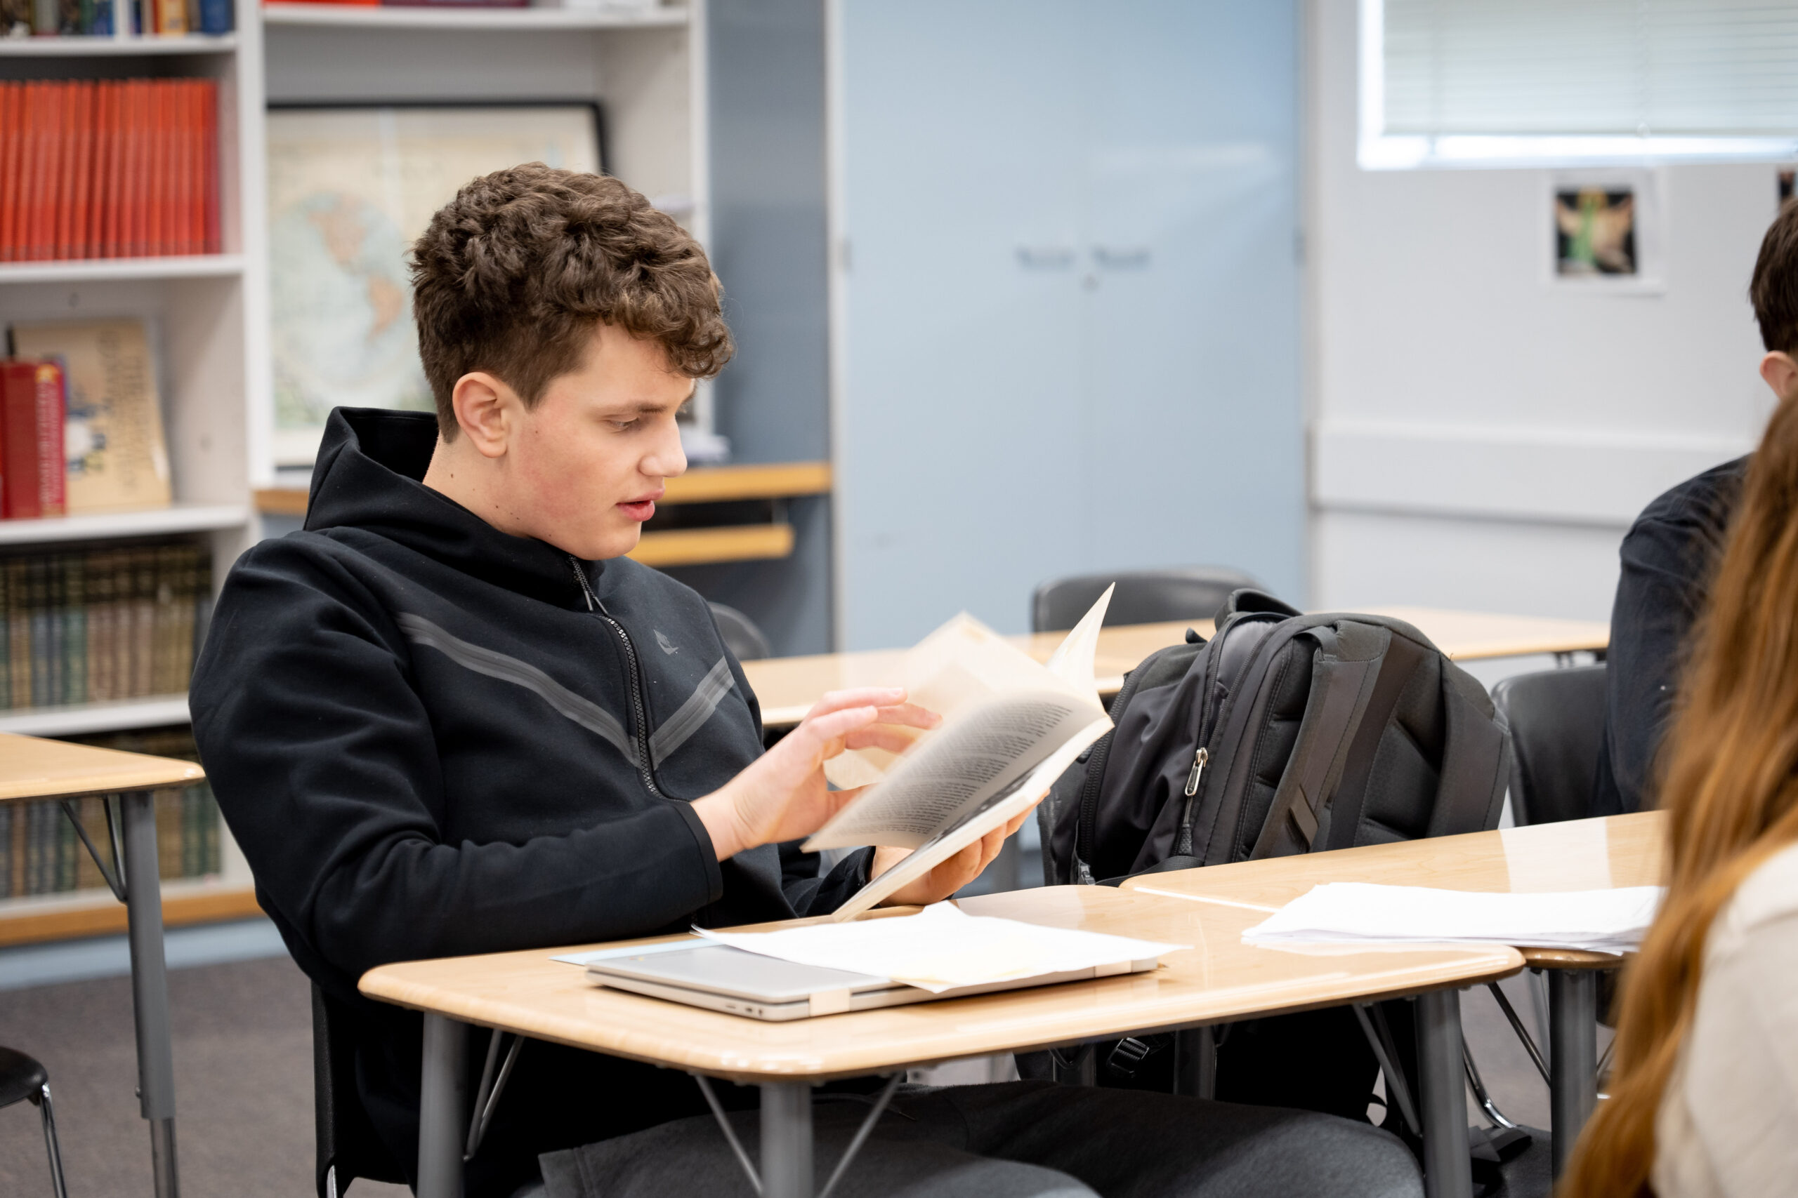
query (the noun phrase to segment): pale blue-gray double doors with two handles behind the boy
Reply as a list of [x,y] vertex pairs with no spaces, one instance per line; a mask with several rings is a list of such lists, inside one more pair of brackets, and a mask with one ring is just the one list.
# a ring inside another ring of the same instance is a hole
[[845,648],[1037,582],[1300,595],[1296,13],[841,0]]

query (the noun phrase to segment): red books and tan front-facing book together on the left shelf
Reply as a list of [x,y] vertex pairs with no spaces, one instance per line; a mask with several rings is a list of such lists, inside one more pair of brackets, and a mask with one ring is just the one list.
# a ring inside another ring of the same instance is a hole
[[13,325],[0,361],[0,519],[167,507],[173,496],[140,320]]

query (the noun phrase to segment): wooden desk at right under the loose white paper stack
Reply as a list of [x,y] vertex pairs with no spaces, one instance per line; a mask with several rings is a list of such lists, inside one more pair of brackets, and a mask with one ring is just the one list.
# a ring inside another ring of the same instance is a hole
[[[1518,894],[1663,885],[1665,853],[1665,814],[1638,812],[1154,873],[1131,878],[1124,889],[1203,905],[1230,903],[1232,909],[1260,916],[1322,882]],[[1598,952],[1527,945],[1519,945],[1519,950],[1530,966],[1550,970],[1548,1088],[1553,1166],[1559,1173],[1598,1096],[1595,970],[1615,968],[1618,959]]]

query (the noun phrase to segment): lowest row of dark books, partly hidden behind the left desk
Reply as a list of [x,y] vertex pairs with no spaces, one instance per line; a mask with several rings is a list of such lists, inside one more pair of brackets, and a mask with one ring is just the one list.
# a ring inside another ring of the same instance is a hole
[[[153,727],[128,733],[72,736],[83,744],[126,753],[151,753],[198,762],[192,733],[185,727]],[[207,783],[180,790],[158,790],[156,871],[164,880],[201,878],[219,873],[219,808]],[[108,868],[111,850],[102,799],[72,801],[81,826],[99,846]],[[106,885],[99,868],[81,844],[76,826],[54,799],[40,803],[0,803],[0,898],[58,894]]]

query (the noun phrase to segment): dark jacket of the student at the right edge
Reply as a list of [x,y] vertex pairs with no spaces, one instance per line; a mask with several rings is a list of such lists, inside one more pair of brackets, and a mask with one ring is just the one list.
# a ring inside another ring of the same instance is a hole
[[1737,458],[1688,478],[1643,508],[1624,537],[1593,815],[1654,806],[1654,754],[1746,471],[1748,458]]

